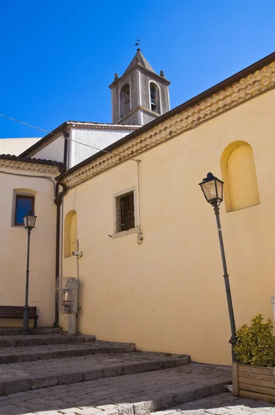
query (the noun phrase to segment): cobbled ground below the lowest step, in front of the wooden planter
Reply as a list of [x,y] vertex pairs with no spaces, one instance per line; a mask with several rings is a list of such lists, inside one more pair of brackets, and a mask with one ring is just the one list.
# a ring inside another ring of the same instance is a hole
[[238,398],[229,392],[184,403],[151,415],[268,415],[275,414],[275,405],[261,400]]

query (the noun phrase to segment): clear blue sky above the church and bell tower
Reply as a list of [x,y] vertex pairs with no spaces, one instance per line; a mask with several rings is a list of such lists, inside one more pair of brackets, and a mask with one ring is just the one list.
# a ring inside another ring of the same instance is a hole
[[[0,113],[111,122],[108,85],[138,37],[176,107],[272,53],[274,15],[274,0],[1,0]],[[43,135],[0,117],[1,138]]]

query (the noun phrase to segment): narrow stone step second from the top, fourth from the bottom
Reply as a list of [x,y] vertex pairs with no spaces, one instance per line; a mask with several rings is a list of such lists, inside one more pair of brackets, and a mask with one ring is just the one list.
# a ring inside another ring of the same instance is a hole
[[95,340],[94,335],[82,334],[30,334],[0,335],[0,347],[39,346],[41,344],[79,344]]

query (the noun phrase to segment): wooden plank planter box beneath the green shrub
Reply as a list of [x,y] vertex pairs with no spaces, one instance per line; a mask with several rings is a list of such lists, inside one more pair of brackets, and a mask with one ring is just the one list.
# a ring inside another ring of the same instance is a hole
[[233,394],[275,403],[275,367],[232,365]]

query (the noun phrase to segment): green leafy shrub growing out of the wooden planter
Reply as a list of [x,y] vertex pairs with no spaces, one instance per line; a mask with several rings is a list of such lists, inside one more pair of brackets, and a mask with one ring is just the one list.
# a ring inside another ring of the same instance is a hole
[[252,318],[251,326],[243,324],[237,331],[234,347],[238,362],[254,366],[275,366],[275,336],[273,322],[263,323],[263,315]]

